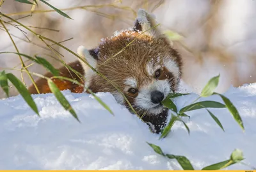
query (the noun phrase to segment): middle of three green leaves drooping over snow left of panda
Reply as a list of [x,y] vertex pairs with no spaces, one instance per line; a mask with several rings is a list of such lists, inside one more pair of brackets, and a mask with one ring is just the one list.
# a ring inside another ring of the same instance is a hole
[[[72,116],[74,116],[74,118],[76,118],[77,121],[79,121],[76,112],[74,111],[74,109],[72,108],[72,106],[70,106],[68,100],[64,97],[64,95],[61,93],[61,91],[58,89],[58,87],[56,86],[56,84],[54,84],[54,82],[52,82],[51,79],[47,79],[48,82],[48,86],[50,88],[50,90],[52,91],[52,93],[54,94],[54,96],[57,98],[57,100],[60,102],[61,106],[64,107],[64,109],[66,109],[67,111],[69,111]],[[79,121],[80,122],[80,121]]]

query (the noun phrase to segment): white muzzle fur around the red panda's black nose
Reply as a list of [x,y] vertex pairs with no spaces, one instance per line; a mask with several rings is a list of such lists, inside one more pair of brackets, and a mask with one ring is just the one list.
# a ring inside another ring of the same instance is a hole
[[135,105],[142,109],[148,110],[148,113],[151,113],[151,114],[161,113],[164,107],[159,106],[159,104],[154,104],[151,100],[151,93],[152,91],[156,91],[156,90],[163,93],[164,98],[166,98],[171,91],[170,83],[168,82],[167,79],[165,79],[165,80],[154,81],[151,84],[144,86],[143,88],[141,88],[138,96],[135,98],[135,101],[134,101]]

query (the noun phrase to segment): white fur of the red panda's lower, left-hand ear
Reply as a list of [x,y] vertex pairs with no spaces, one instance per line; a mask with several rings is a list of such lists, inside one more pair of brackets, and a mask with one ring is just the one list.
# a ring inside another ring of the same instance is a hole
[[[96,68],[97,60],[93,58],[93,56],[91,56],[89,51],[84,46],[81,45],[77,48],[77,54],[81,56],[81,58],[84,58],[87,61],[87,63],[89,63],[93,68]],[[84,68],[84,77],[85,77],[84,86],[88,88],[88,86],[90,86],[90,81],[93,75],[95,75],[95,72],[88,65],[86,65],[81,59],[79,59],[79,61]]]

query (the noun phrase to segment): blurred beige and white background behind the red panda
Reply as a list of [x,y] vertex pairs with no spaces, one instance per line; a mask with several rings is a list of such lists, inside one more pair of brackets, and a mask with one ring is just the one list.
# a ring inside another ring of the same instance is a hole
[[[2,0],[3,1],[3,0]],[[72,20],[52,12],[49,6],[38,2],[31,13],[31,5],[6,0],[0,12],[29,26],[31,29],[56,42],[62,42],[76,52],[79,45],[88,49],[97,46],[101,38],[112,36],[115,31],[132,27],[136,12],[144,8],[156,15],[161,29],[171,30],[182,36],[174,42],[174,47],[182,55],[184,62],[182,80],[196,92],[202,90],[211,77],[220,74],[218,90],[226,91],[230,86],[241,86],[256,81],[256,1],[252,0],[51,0],[47,1],[67,13]],[[50,10],[50,11],[49,11]],[[29,16],[28,16],[29,15]],[[24,17],[23,19],[20,19]],[[9,20],[2,17],[6,22]],[[10,24],[15,24],[10,22]],[[54,58],[62,58],[66,63],[76,57],[52,45],[52,52],[35,35],[20,26],[6,24],[20,53],[33,56],[38,54],[52,65],[62,64]],[[0,26],[0,52],[15,52],[13,43],[4,28]],[[49,42],[48,42],[49,43]],[[24,61],[26,59],[24,58]],[[29,71],[44,74],[39,65],[26,62]],[[19,56],[0,54],[1,68],[19,68]],[[19,79],[19,71],[12,72]],[[31,84],[23,72],[27,86]],[[36,77],[34,77],[36,79]],[[17,95],[10,88],[11,95]],[[0,98],[6,97],[0,89]]]

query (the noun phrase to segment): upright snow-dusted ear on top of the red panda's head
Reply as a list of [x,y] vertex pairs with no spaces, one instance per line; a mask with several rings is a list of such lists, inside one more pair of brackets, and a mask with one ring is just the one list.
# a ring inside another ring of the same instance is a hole
[[159,26],[157,26],[156,17],[143,9],[138,10],[138,17],[134,24],[134,31],[142,31],[153,37],[163,36]]

